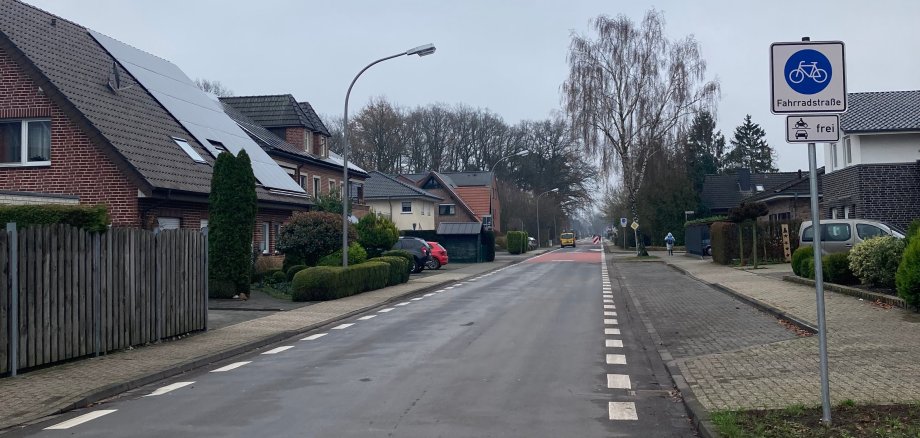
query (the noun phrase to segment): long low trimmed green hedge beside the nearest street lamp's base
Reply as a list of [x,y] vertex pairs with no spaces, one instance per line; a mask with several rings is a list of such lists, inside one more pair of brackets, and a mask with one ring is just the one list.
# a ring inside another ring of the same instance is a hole
[[390,264],[369,261],[347,268],[315,266],[294,275],[291,283],[294,301],[335,300],[386,287]]

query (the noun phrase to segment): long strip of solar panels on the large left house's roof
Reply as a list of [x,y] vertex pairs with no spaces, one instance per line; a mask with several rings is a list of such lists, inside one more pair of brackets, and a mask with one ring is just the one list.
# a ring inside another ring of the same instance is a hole
[[303,188],[224,113],[220,102],[208,98],[179,67],[101,33],[92,30],[89,33],[214,157],[220,151],[210,140],[223,144],[234,155],[245,150],[252,160],[252,172],[263,186],[304,193]]

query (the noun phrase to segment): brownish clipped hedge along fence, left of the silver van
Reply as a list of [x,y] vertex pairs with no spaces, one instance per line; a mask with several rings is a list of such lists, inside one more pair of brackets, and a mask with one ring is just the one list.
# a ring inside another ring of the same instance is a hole
[[[757,222],[757,259],[762,261],[784,261],[782,225],[789,227],[790,251],[799,245],[800,220]],[[739,225],[741,232],[739,233]],[[734,264],[736,260],[746,263],[752,259],[753,223],[736,224],[733,222],[715,222],[709,227],[712,259],[722,265]],[[739,240],[742,239],[742,240]],[[740,254],[744,250],[743,256]]]

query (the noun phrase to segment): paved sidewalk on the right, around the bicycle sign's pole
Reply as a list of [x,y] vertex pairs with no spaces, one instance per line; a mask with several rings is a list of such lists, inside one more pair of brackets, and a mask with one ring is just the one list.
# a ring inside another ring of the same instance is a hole
[[[651,255],[742,299],[817,326],[814,287],[784,282],[788,265],[743,270],[711,259]],[[825,293],[833,403],[920,400],[920,315],[847,295]],[[691,315],[688,315],[691,316]],[[707,411],[820,404],[818,337],[799,337],[675,360]]]

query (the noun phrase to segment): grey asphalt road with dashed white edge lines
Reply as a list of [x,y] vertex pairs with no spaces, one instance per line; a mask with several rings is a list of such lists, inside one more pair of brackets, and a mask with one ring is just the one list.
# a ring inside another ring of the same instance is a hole
[[693,436],[601,257],[553,251],[14,435]]

